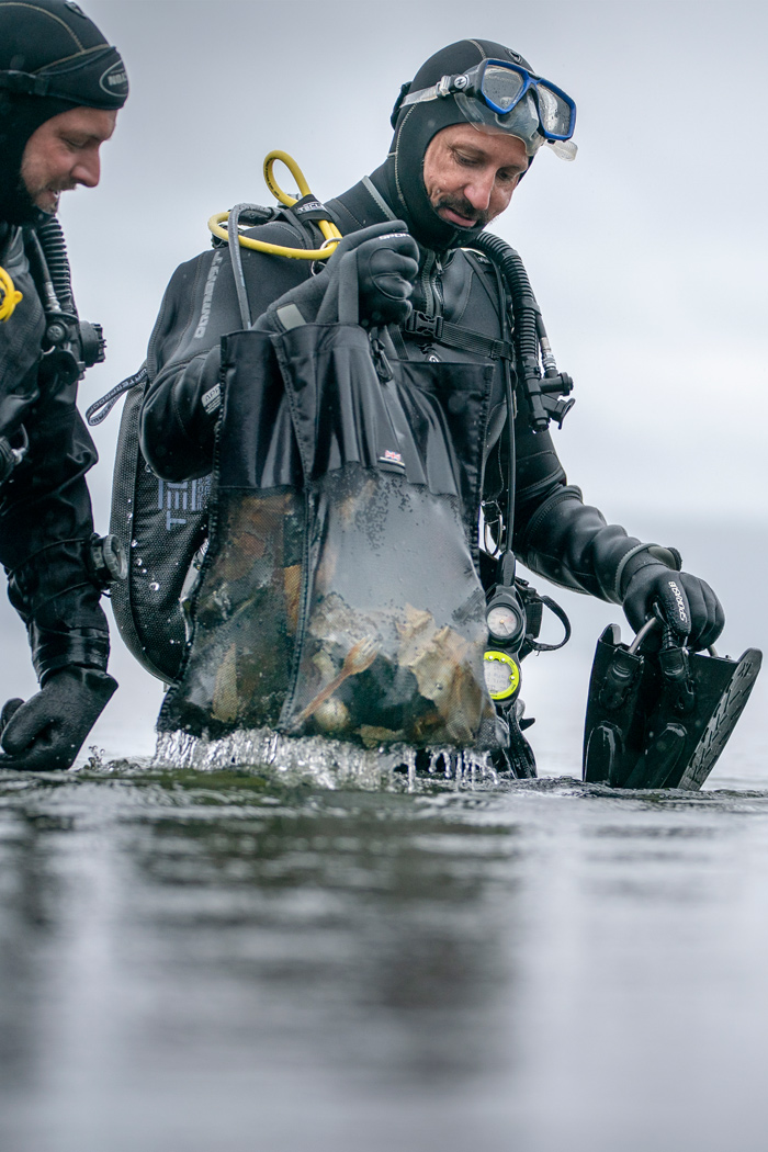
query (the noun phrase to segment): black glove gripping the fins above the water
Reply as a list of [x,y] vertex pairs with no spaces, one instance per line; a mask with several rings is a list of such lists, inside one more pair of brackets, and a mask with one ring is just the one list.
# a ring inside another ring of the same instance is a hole
[[624,613],[636,632],[653,615],[654,604],[677,639],[694,652],[714,644],[725,624],[722,605],[705,581],[649,560],[630,576],[624,592]]

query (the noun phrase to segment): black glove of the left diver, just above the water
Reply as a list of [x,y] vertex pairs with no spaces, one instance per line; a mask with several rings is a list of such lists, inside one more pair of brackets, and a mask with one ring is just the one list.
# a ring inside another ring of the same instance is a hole
[[8,700],[0,712],[0,768],[51,772],[68,768],[117,688],[97,668],[70,665],[53,673],[26,703]]

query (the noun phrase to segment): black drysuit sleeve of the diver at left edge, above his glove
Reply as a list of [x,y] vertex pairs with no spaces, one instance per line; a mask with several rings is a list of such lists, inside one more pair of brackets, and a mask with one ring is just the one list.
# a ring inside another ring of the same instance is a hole
[[0,435],[29,449],[0,488],[0,563],[24,621],[40,680],[79,665],[105,669],[107,621],[90,563],[93,537],[85,473],[97,453],[77,411],[77,381],[41,382],[43,309],[21,234],[3,253],[23,300],[0,324]]

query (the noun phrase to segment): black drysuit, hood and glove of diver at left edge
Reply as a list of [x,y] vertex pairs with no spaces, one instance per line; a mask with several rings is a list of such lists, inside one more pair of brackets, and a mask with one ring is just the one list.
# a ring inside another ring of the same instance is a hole
[[[66,250],[21,168],[48,120],[73,108],[116,111],[127,94],[120,55],[77,5],[1,0],[0,266],[23,298],[0,323],[0,562],[41,688],[2,708],[0,768],[68,767],[117,687],[106,672],[104,555],[85,483],[97,453],[76,407],[78,377],[99,358],[99,334],[73,317],[52,349],[44,229],[54,230],[59,287],[69,279]],[[59,303],[71,313],[66,295]]]

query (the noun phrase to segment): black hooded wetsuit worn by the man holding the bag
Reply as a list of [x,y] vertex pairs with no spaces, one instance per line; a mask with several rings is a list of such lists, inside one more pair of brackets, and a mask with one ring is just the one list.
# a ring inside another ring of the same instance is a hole
[[[441,219],[423,179],[431,139],[450,124],[465,123],[466,118],[453,97],[402,106],[409,90],[425,90],[485,58],[511,60],[529,68],[517,53],[486,40],[463,40],[438,52],[411,84],[403,86],[393,113],[395,137],[385,164],[325,207],[344,236],[388,220],[404,221],[418,242],[418,274],[412,276],[410,296],[413,310],[499,340],[505,304],[500,300],[495,270],[489,260],[459,247],[471,245],[480,229],[453,227]],[[249,235],[277,244],[317,247],[317,240],[297,229],[295,219],[283,213]],[[317,306],[312,301],[321,296],[326,273],[310,283],[309,262],[248,249],[242,250],[242,262],[250,314],[258,327],[281,331],[280,313],[288,314],[281,305],[290,302],[298,303],[304,320],[314,318]],[[364,294],[365,279],[360,283]],[[295,288],[297,285],[303,286]],[[367,287],[372,287],[370,280]],[[219,410],[219,341],[242,327],[226,248],[205,252],[176,271],[150,342],[151,385],[142,414],[142,447],[160,477],[178,482],[211,471]],[[402,324],[398,329],[390,326],[390,332],[401,357],[489,363],[477,350],[441,344],[438,333],[409,332]],[[505,483],[505,437],[501,433],[507,404],[501,361],[495,365],[485,431],[487,520],[493,518],[496,506],[503,507]],[[515,420],[515,440],[514,551],[519,560],[555,584],[622,604],[636,630],[659,597],[666,608],[669,600],[664,600],[664,592],[670,569],[679,570],[678,554],[628,536],[623,528],[607,524],[596,508],[585,506],[579,490],[567,482],[549,433],[532,430],[523,403]],[[723,628],[722,608],[704,581],[686,573],[676,579],[690,601],[689,643],[694,649],[705,647]]]

